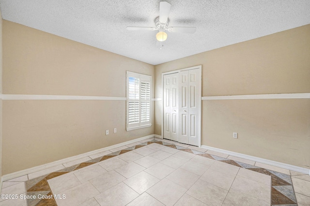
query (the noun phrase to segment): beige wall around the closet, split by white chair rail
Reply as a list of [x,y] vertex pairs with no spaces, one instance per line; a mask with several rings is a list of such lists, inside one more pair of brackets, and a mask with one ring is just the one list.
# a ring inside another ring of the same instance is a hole
[[[163,72],[196,65],[202,96],[309,93],[310,25],[156,65],[155,98]],[[202,101],[202,145],[309,169],[310,99]]]

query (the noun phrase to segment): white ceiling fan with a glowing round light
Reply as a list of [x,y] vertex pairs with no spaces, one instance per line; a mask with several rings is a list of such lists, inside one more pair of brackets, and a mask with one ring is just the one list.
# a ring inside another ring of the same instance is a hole
[[168,27],[169,25],[169,13],[171,4],[166,1],[161,1],[159,3],[159,16],[155,19],[155,27],[126,27],[127,30],[131,31],[155,31],[158,30],[156,34],[156,39],[159,42],[166,41],[168,35],[165,31],[169,32],[179,32],[179,33],[195,33],[196,27]]

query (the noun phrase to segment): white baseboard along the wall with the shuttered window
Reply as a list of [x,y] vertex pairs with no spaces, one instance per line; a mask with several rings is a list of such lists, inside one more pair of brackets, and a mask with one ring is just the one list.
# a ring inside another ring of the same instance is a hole
[[127,142],[123,142],[123,143],[117,144],[117,145],[112,145],[112,146],[109,146],[109,147],[104,147],[104,148],[96,149],[96,150],[93,150],[93,151],[90,151],[90,152],[79,154],[79,155],[76,155],[76,156],[73,156],[73,157],[68,157],[68,158],[65,158],[65,159],[62,159],[62,160],[58,160],[58,161],[55,161],[55,162],[49,162],[49,163],[42,164],[42,165],[35,166],[35,167],[31,167],[31,168],[28,168],[28,169],[25,169],[25,170],[20,170],[20,171],[14,172],[14,173],[3,175],[1,177],[0,184],[2,184],[2,181],[6,181],[6,180],[13,179],[13,178],[16,178],[16,177],[21,177],[21,176],[24,176],[24,175],[28,175],[28,174],[31,174],[31,173],[34,173],[34,172],[38,172],[38,171],[41,171],[41,170],[44,170],[44,169],[47,169],[47,168],[50,168],[50,167],[54,167],[54,166],[66,163],[66,162],[72,162],[72,161],[75,161],[75,160],[78,160],[78,159],[81,159],[81,158],[84,158],[84,157],[92,156],[92,155],[100,153],[100,152],[104,152],[104,151],[107,151],[107,150],[110,150],[110,149],[114,149],[114,148],[117,148],[117,147],[122,147],[122,146],[125,146],[125,145],[129,145],[131,143],[134,143],[134,142],[137,142],[137,141],[140,141],[140,140],[144,140],[144,139],[148,139],[148,138],[152,138],[152,137],[154,137],[154,134],[151,134],[151,135],[148,135],[148,136],[144,136],[144,137],[140,137],[140,138],[137,138],[137,139],[133,139],[133,140],[130,140],[130,141],[127,141]]

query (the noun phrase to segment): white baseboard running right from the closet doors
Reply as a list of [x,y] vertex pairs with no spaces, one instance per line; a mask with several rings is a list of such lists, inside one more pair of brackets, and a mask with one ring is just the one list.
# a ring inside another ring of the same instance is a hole
[[310,175],[310,169],[294,166],[291,164],[276,162],[276,161],[272,161],[272,160],[267,160],[267,159],[263,159],[263,158],[259,158],[259,157],[254,157],[254,156],[250,156],[250,155],[246,155],[246,154],[242,154],[242,153],[232,152],[229,150],[219,149],[216,147],[209,147],[209,146],[205,146],[205,145],[202,145],[201,148]]

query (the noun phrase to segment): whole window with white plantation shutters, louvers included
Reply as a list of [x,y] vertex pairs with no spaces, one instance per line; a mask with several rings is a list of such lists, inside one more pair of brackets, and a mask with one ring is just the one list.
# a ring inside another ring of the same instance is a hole
[[151,126],[149,75],[127,72],[127,131]]

